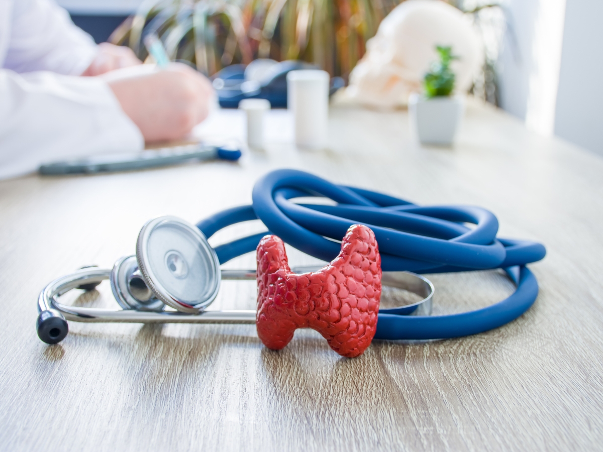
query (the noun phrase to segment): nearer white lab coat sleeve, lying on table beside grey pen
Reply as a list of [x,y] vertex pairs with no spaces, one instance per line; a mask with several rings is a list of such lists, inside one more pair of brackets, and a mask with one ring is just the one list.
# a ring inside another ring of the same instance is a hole
[[0,69],[0,99],[0,178],[45,162],[144,148],[101,78]]

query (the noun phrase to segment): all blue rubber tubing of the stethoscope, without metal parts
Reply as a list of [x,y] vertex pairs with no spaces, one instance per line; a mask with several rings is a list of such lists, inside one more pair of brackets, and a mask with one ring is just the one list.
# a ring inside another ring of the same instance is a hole
[[[308,196],[323,196],[338,204],[289,201]],[[497,238],[496,216],[480,207],[417,206],[293,169],[279,169],[262,177],[253,187],[252,199],[253,205],[216,213],[197,227],[209,238],[229,225],[260,219],[268,233],[306,254],[330,261],[339,254],[347,229],[364,224],[379,243],[384,271],[441,273],[502,268],[517,286],[505,300],[472,312],[404,316],[381,309],[376,339],[445,339],[481,333],[516,319],[538,296],[536,278],[525,265],[543,259],[545,246]],[[466,223],[475,224],[475,228]],[[265,234],[217,246],[219,262],[254,251]]]

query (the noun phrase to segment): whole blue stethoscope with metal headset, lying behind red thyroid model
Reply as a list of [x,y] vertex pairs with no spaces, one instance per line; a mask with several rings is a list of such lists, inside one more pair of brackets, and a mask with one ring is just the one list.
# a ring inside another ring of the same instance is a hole
[[[308,196],[323,196],[336,204],[291,202]],[[207,307],[218,295],[221,280],[255,279],[253,270],[221,270],[219,266],[255,250],[268,232],[216,248],[207,239],[224,227],[256,219],[289,245],[326,261],[337,256],[350,225],[370,227],[379,244],[382,284],[421,297],[417,303],[380,309],[376,339],[444,339],[504,325],[534,303],[538,284],[525,264],[546,254],[540,243],[497,238],[496,217],[479,207],[421,207],[382,193],[335,185],[306,172],[280,169],[257,181],[251,206],[216,213],[196,227],[172,216],[153,219],[140,230],[135,256],[122,257],[112,269],[83,268],[49,283],[38,300],[38,336],[47,344],[62,341],[69,331],[68,320],[255,323],[254,310]],[[472,312],[430,315],[434,286],[418,273],[492,268],[503,268],[516,284],[513,295]],[[60,303],[69,290],[92,290],[107,279],[121,309]]]

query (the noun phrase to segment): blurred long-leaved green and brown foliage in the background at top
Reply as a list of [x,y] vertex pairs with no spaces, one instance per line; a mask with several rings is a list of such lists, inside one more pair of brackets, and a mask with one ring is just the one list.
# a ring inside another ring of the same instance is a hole
[[[188,61],[207,75],[233,63],[273,58],[316,63],[347,80],[364,55],[367,40],[402,1],[146,0],[110,41],[129,45],[144,60],[147,51],[142,39],[147,33],[157,33],[172,60]],[[484,11],[497,5],[473,1],[467,14],[478,28],[484,28]],[[463,5],[452,4],[464,10]],[[484,71],[476,81],[476,94],[496,102],[495,77],[486,74],[488,66]],[[491,98],[488,82],[493,85]]]

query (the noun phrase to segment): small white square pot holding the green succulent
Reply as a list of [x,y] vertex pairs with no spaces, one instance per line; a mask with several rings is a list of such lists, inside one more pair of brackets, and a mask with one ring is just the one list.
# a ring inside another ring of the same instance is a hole
[[465,110],[462,96],[438,96],[431,99],[412,93],[408,99],[411,120],[421,143],[451,145]]

